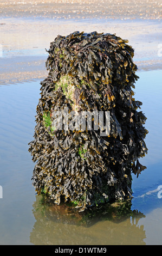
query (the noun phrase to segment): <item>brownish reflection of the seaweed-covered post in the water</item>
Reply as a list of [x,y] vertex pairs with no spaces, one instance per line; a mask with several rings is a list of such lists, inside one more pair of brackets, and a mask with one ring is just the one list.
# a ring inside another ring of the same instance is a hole
[[78,212],[70,206],[47,204],[36,196],[33,204],[35,224],[30,234],[34,245],[145,245],[145,215],[131,210],[131,200],[102,205]]

